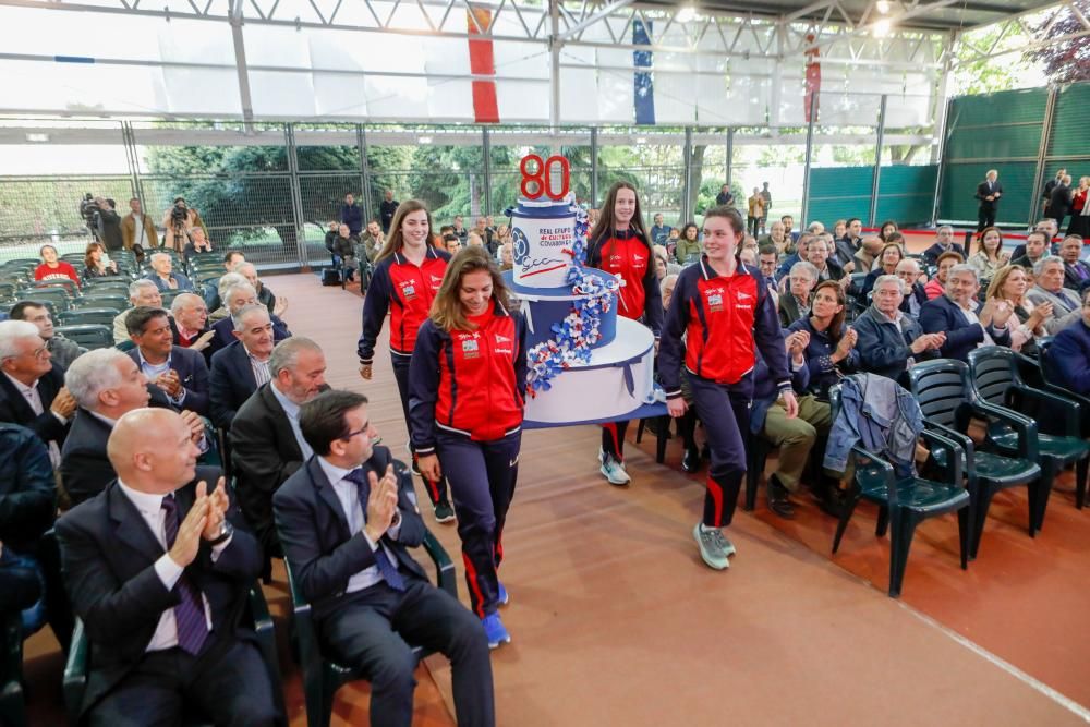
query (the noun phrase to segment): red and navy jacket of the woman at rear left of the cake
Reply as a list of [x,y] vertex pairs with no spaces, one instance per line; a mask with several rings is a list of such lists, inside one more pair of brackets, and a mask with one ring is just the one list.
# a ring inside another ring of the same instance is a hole
[[412,355],[416,331],[432,312],[432,301],[439,291],[450,254],[427,246],[424,262],[417,267],[396,252],[375,267],[371,287],[363,300],[363,334],[356,353],[361,364],[375,359],[375,341],[386,312],[390,315],[390,351],[395,355]]

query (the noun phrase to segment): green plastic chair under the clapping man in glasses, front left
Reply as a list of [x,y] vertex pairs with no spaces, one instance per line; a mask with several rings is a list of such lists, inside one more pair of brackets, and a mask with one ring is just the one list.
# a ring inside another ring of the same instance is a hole
[[[401,480],[401,487],[412,487],[412,475],[405,465],[395,462],[395,469]],[[408,480],[408,483],[405,482]],[[436,580],[440,589],[458,598],[458,583],[455,575],[455,565],[443,545],[431,532],[424,533],[424,549],[432,558],[436,569]],[[310,727],[329,727],[334,710],[334,696],[341,686],[364,679],[364,675],[352,667],[337,664],[322,655],[311,604],[307,603],[299,589],[299,582],[292,573],[291,564],[286,559],[288,570],[288,586],[291,591],[292,625],[299,663],[303,671],[303,692],[306,699],[306,724]],[[421,646],[413,650],[417,663],[431,652]]]

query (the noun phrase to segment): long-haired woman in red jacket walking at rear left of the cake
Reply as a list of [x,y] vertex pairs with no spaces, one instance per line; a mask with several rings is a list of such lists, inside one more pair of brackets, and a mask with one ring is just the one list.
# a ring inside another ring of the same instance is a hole
[[[412,426],[409,420],[409,360],[416,344],[416,331],[427,319],[432,301],[443,283],[450,255],[428,244],[432,216],[423,202],[409,199],[398,206],[390,225],[390,237],[375,257],[371,288],[363,300],[363,334],[360,336],[360,376],[371,380],[375,360],[375,341],[383,330],[386,313],[390,315],[390,359],[393,378],[401,395],[401,410],[410,428],[410,453],[413,470],[419,473],[416,455],[412,451]],[[437,522],[451,522],[455,511],[447,498],[443,478],[428,480],[427,496],[435,508]]]

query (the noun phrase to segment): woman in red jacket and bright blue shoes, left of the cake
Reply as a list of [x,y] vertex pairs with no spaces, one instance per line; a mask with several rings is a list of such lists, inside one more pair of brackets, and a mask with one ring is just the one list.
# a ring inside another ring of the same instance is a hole
[[413,446],[425,477],[446,473],[458,512],[465,582],[493,649],[511,640],[497,607],[507,592],[507,509],[514,495],[526,385],[525,323],[482,247],[455,254],[421,326],[409,371]]

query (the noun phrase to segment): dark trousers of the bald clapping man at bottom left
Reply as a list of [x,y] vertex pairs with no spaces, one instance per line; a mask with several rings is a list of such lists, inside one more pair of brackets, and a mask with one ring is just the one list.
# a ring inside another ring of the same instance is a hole
[[257,645],[232,638],[198,656],[177,647],[145,654],[92,708],[87,722],[92,727],[166,727],[181,725],[191,711],[230,727],[278,724]]

